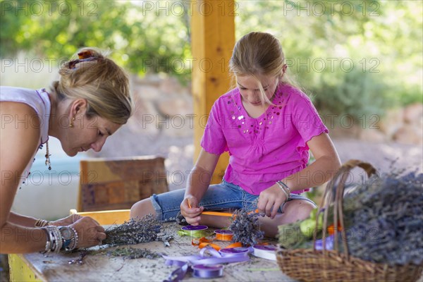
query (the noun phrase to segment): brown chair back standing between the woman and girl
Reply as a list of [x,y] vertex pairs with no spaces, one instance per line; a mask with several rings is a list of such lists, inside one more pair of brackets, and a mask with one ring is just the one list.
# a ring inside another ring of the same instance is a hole
[[156,156],[80,161],[78,212],[130,209],[168,191],[164,158]]

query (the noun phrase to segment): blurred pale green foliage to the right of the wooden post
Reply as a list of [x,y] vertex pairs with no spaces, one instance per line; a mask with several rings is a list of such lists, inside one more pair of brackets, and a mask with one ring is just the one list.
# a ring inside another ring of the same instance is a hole
[[422,102],[421,1],[239,1],[236,37],[281,40],[289,75],[320,114],[384,114]]

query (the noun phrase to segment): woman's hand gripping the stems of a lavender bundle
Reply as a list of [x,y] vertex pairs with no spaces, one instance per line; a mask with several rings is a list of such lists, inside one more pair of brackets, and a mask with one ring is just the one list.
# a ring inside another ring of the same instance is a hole
[[78,245],[76,247],[102,245],[102,240],[106,239],[103,226],[89,216],[82,216],[71,226],[78,233]]

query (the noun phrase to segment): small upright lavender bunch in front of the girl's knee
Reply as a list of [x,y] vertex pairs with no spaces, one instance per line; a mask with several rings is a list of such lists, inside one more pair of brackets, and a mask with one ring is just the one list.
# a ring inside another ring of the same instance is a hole
[[233,212],[232,223],[229,230],[233,232],[233,240],[244,246],[256,245],[264,238],[260,231],[259,214],[247,209],[238,209]]

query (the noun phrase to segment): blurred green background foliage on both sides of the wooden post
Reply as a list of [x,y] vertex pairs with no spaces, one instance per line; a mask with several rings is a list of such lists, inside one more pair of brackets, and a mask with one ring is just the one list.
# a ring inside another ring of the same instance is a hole
[[[1,1],[0,56],[111,49],[131,73],[190,81],[189,1]],[[237,1],[236,39],[281,40],[321,114],[384,114],[422,102],[422,1]]]

